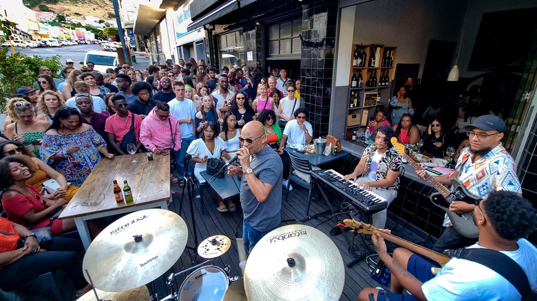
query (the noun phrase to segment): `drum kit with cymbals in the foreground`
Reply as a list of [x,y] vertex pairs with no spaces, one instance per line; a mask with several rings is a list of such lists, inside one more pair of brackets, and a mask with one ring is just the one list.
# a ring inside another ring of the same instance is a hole
[[[92,287],[79,300],[158,300],[153,282],[180,258],[188,229],[178,214],[148,209],[133,212],[105,228],[83,260]],[[227,236],[204,239],[197,249],[203,263],[172,273],[171,294],[161,301],[338,300],[345,282],[339,249],[326,234],[307,225],[286,225],[255,245],[244,278],[231,268],[209,265],[231,247]],[[242,246],[238,246],[242,247]],[[176,291],[175,278],[185,274]]]

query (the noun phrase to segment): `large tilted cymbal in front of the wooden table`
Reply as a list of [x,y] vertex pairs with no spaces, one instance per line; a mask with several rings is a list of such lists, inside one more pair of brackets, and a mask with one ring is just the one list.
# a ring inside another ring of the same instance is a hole
[[88,270],[94,287],[103,291],[134,289],[176,263],[187,238],[187,224],[174,212],[132,212],[98,234],[86,251],[83,269]]

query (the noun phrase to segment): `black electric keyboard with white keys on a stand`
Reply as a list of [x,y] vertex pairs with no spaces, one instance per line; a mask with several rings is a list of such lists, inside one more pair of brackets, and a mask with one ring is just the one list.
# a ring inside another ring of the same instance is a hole
[[378,212],[388,207],[386,199],[379,196],[379,194],[359,188],[358,184],[352,181],[345,181],[343,175],[335,170],[312,170],[310,173],[312,177],[317,179],[318,183],[332,188],[338,194],[350,200],[353,205],[366,212]]

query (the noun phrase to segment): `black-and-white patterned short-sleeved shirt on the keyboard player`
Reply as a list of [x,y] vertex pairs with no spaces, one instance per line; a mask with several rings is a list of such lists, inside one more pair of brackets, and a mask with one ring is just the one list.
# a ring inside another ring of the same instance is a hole
[[[361,174],[363,177],[367,177],[368,172],[371,168],[371,161],[373,159],[373,156],[375,155],[375,152],[377,151],[377,147],[375,144],[371,144],[364,150],[363,157],[367,158],[366,161],[366,168],[364,169],[364,172]],[[377,166],[377,181],[386,179],[388,177],[388,171],[394,171],[399,172],[401,171],[401,156],[397,154],[397,151],[388,148],[386,152],[382,154],[382,157],[379,161],[379,165]],[[397,190],[399,189],[399,177],[395,180],[395,183],[393,183],[390,187],[377,187],[379,190]]]

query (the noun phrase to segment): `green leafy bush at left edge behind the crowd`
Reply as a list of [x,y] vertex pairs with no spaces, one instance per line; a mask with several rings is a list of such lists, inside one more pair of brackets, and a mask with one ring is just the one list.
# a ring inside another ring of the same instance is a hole
[[[1,43],[2,41],[0,41]],[[25,56],[20,52],[11,52],[10,47],[0,49],[0,108],[3,108],[4,98],[15,93],[19,87],[31,86],[39,75],[39,67],[47,66],[52,76],[59,77],[58,72],[63,68],[59,55],[50,58]]]

